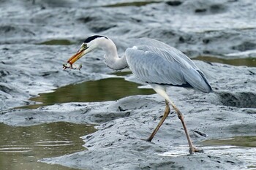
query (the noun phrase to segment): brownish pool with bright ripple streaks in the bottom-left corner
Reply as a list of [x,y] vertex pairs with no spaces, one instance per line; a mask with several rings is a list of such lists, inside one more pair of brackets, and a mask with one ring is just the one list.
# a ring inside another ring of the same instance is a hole
[[93,133],[93,125],[46,123],[27,127],[0,124],[1,169],[61,169],[59,165],[37,162],[41,158],[67,155],[85,150],[80,136]]

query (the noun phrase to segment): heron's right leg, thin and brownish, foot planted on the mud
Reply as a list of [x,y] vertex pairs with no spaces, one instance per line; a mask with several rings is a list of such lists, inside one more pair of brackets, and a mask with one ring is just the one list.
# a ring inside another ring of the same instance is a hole
[[183,128],[184,128],[184,131],[185,131],[185,134],[187,136],[187,142],[189,143],[189,152],[190,153],[193,153],[193,152],[203,152],[203,150],[198,150],[197,148],[194,147],[194,145],[192,144],[192,141],[189,137],[189,132],[187,131],[187,126],[184,122],[184,117],[181,113],[181,111],[179,111],[179,109],[175,106],[175,104],[173,104],[173,102],[170,102],[170,105],[172,105],[173,109],[175,109],[175,111],[177,112],[177,115],[178,115],[178,119],[181,120],[181,123],[183,125]]

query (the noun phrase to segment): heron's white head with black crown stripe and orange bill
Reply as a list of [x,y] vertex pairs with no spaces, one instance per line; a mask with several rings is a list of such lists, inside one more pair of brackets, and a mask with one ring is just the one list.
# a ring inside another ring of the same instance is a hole
[[67,63],[70,63],[71,65],[75,63],[75,61],[78,61],[79,58],[83,57],[83,55],[86,55],[87,53],[91,52],[92,50],[96,49],[99,45],[99,42],[102,39],[108,39],[105,36],[89,36],[81,45],[80,49],[78,50],[75,55],[72,55],[71,58],[67,61]]

